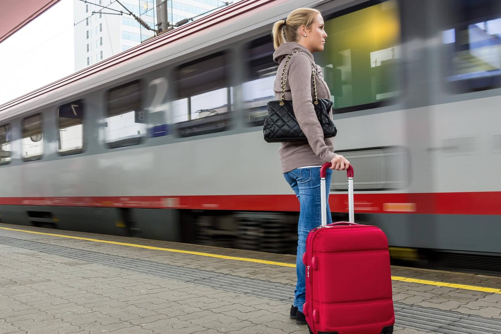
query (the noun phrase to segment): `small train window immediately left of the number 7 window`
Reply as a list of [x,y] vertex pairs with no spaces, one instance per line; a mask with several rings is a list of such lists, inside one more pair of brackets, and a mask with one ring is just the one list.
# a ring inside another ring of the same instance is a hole
[[38,160],[44,153],[42,114],[23,119],[23,139],[21,140],[24,161]]

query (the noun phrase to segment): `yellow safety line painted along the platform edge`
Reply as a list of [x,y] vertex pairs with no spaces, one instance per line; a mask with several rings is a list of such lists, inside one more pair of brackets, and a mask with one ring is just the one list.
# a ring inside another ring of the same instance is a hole
[[[78,240],[87,240],[87,241],[94,241],[94,242],[110,243],[110,244],[114,244],[114,245],[130,246],[130,247],[137,247],[137,248],[163,250],[163,251],[168,251],[168,252],[173,252],[173,253],[183,253],[183,254],[192,254],[192,255],[216,257],[216,258],[222,258],[222,259],[227,259],[227,260],[237,260],[237,261],[245,261],[245,262],[256,262],[256,263],[272,264],[272,265],[279,265],[279,266],[283,266],[283,267],[292,267],[292,268],[296,267],[296,264],[293,264],[293,263],[267,261],[267,260],[260,260],[260,259],[254,259],[254,258],[248,258],[248,257],[236,257],[236,256],[218,255],[218,254],[211,254],[211,253],[194,252],[194,251],[189,251],[189,250],[180,250],[180,249],[172,249],[172,248],[163,248],[163,247],[138,245],[138,244],[134,244],[134,243],[125,243],[125,242],[108,241],[108,240],[91,239],[91,238],[82,238],[82,237],[78,237],[78,236],[71,236],[71,235],[64,235],[64,234],[55,234],[55,233],[44,233],[44,232],[36,232],[36,231],[28,231],[28,230],[21,230],[21,229],[16,229],[16,228],[9,228],[9,227],[0,227],[0,229],[9,230],[9,231],[18,231],[18,232],[33,233],[33,234],[42,234],[42,235],[57,236],[57,237],[69,238],[69,239],[78,239]],[[426,279],[417,279],[417,278],[408,278],[408,277],[399,277],[399,276],[391,276],[391,279],[395,280],[395,281],[400,281],[400,282],[418,283],[418,284],[435,285],[435,286],[445,286],[445,287],[450,287],[450,288],[455,288],[455,289],[473,290],[473,291],[481,291],[481,292],[487,292],[487,293],[501,294],[501,289],[495,289],[495,288],[491,288],[491,287],[483,287],[483,286],[475,286],[475,285],[465,285],[465,284],[456,284],[456,283],[445,283],[445,282],[437,282],[437,281],[426,280]]]

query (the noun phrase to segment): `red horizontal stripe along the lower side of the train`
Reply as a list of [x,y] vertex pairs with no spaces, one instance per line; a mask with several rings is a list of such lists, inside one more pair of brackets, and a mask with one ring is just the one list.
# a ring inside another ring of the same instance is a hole
[[[355,194],[357,213],[501,215],[501,192]],[[347,212],[346,194],[331,194],[333,212]],[[0,197],[0,205],[299,211],[294,195]]]

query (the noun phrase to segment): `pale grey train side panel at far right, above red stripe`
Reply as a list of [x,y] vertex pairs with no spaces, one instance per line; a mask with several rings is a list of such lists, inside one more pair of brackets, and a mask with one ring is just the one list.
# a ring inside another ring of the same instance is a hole
[[493,148],[500,133],[501,97],[431,106],[434,166],[432,192],[501,189],[501,154]]

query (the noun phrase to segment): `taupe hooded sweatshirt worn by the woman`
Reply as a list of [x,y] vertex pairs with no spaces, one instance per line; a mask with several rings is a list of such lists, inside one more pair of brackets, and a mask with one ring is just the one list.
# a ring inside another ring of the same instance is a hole
[[287,64],[285,100],[293,101],[294,114],[308,142],[282,143],[279,153],[283,173],[290,172],[299,167],[320,166],[325,162],[331,162],[332,158],[336,155],[334,153],[334,138],[324,138],[322,126],[318,121],[313,107],[315,92],[312,80],[312,64],[318,74],[318,77],[315,77],[317,98],[330,99],[329,88],[324,81],[322,69],[315,64],[315,59],[311,52],[296,42],[282,44],[273,54],[273,60],[280,64],[273,86],[275,98],[276,100],[280,100],[282,97],[282,87],[280,84],[282,71],[284,70],[287,57],[294,51],[299,51],[299,53],[292,56]]

